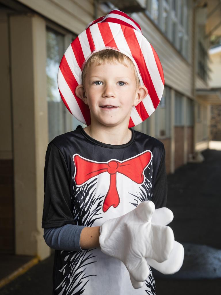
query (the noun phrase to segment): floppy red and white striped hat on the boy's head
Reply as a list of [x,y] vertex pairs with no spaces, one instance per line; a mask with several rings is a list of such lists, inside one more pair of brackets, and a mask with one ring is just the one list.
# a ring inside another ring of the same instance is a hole
[[141,85],[148,95],[131,110],[128,128],[146,120],[160,103],[164,90],[164,73],[153,46],[142,35],[141,27],[118,9],[90,22],[69,45],[60,62],[58,89],[69,112],[80,122],[90,125],[90,109],[75,94],[82,84],[82,71],[88,58],[100,50],[113,49],[128,56],[135,65]]

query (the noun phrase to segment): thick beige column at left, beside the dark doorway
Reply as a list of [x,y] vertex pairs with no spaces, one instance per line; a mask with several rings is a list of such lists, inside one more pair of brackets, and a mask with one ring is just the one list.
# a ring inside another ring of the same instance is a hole
[[46,26],[35,14],[10,16],[16,254],[44,259],[41,228],[48,144]]

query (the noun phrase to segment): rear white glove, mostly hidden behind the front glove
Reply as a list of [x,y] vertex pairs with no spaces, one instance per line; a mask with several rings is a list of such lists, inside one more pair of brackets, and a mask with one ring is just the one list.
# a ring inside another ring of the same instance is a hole
[[[154,211],[152,216],[152,223],[159,224],[159,225],[167,225],[169,224],[174,218],[173,212],[166,208],[159,208]],[[155,268],[157,271],[167,275],[173,274],[179,271],[183,264],[184,260],[184,248],[183,245],[174,241],[174,248],[169,256],[169,258],[161,263],[155,261],[151,258],[146,258],[147,263],[149,266]],[[135,289],[141,288],[144,284],[144,281],[136,281],[130,274],[130,279],[133,287]]]

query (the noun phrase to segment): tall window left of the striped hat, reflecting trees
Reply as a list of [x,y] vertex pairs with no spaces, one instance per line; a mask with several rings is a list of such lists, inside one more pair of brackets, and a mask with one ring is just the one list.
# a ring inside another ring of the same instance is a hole
[[47,28],[47,104],[49,141],[65,133],[65,105],[57,87],[57,72],[64,54],[64,36]]

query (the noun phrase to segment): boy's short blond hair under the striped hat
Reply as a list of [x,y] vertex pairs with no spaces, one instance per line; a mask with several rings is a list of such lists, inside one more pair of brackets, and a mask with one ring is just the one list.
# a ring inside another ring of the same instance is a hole
[[88,68],[92,65],[102,65],[103,63],[116,63],[119,62],[123,65],[125,65],[126,67],[129,65],[131,65],[131,68],[133,68],[134,71],[134,75],[136,77],[136,89],[138,89],[138,87],[140,86],[140,80],[138,78],[137,75],[137,71],[135,68],[135,65],[133,64],[132,60],[130,58],[128,58],[128,56],[124,55],[123,53],[121,53],[118,50],[113,50],[113,49],[104,49],[104,50],[100,50],[98,52],[93,53],[90,58],[87,60],[83,71],[82,71],[82,84],[85,87],[85,76],[87,73]]

